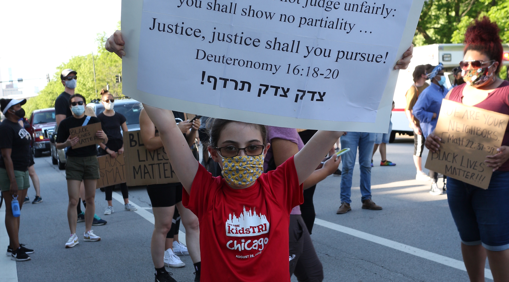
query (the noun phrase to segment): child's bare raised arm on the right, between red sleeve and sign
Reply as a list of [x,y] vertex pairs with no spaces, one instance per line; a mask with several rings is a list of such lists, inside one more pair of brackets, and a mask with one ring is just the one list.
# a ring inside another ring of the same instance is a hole
[[294,162],[297,176],[299,177],[299,184],[302,184],[315,171],[330,148],[334,146],[334,143],[343,133],[345,132],[319,130],[307,142],[304,148],[295,154]]

